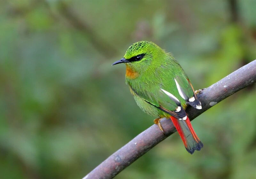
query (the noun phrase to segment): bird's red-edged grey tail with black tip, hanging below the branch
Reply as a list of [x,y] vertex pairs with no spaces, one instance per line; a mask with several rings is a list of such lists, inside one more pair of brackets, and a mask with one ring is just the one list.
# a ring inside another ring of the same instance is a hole
[[193,154],[195,150],[200,151],[203,148],[204,145],[197,137],[188,116],[186,120],[179,120],[171,116],[171,120],[190,154]]

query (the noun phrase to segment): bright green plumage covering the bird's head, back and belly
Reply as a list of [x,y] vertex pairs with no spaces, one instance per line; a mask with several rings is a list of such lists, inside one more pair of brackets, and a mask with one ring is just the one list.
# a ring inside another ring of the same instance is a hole
[[[180,79],[183,79],[183,86],[190,88],[186,80],[188,77],[170,53],[166,53],[152,42],[134,43],[128,48],[124,58],[130,59],[140,54],[145,54],[140,61],[126,63],[128,68],[138,73],[137,77],[131,78],[126,75],[125,81],[130,86],[136,103],[144,112],[154,117],[170,116],[155,107],[162,105],[170,111],[174,111],[177,108],[174,101],[161,93],[160,89],[170,92],[179,99],[182,106],[185,106],[186,101],[180,96],[174,78],[180,77]],[[190,88],[189,92],[189,96],[191,96],[193,90]],[[146,101],[155,106],[148,104]]]

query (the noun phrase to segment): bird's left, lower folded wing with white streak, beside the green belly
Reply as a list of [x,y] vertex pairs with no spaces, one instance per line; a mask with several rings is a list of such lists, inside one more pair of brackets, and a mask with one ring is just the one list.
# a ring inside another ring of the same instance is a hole
[[147,93],[145,91],[137,92],[136,90],[132,89],[132,87],[131,90],[148,104],[155,106],[165,113],[170,114],[171,116],[180,120],[187,119],[187,114],[185,113],[180,101],[170,92],[161,88],[159,88],[159,90],[157,90],[157,92],[154,94],[152,92]]

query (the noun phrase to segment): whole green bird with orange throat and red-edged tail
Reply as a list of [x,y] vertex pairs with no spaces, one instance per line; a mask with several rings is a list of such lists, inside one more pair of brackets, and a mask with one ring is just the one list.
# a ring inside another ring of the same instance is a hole
[[[124,58],[113,65],[125,63],[125,82],[137,105],[160,124],[161,118],[171,118],[190,154],[203,148],[185,112],[187,105],[202,109],[196,93],[180,64],[153,42],[132,44]],[[163,131],[164,132],[164,131]]]

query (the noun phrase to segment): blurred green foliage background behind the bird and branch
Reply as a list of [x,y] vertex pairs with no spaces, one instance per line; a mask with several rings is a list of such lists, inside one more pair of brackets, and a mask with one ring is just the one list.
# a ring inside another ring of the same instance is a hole
[[[195,89],[256,57],[256,1],[0,1],[0,178],[82,178],[153,125],[111,66],[140,40],[172,52]],[[255,178],[255,86],[116,176]]]

